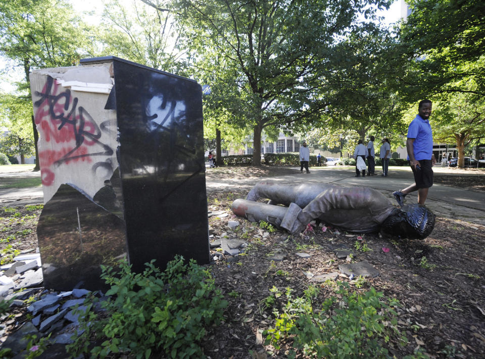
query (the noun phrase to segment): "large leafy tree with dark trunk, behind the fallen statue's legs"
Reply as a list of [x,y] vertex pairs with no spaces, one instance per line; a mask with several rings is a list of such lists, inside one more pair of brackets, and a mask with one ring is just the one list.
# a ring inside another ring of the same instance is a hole
[[[244,119],[253,128],[253,148],[261,151],[265,127],[285,127],[321,117],[328,105],[325,87],[345,58],[333,49],[350,32],[359,31],[358,15],[384,0],[178,0],[186,43],[207,71],[237,71]],[[366,10],[364,10],[364,8]],[[230,67],[217,68],[207,54],[217,52]],[[231,104],[226,106],[233,109]],[[236,111],[236,109],[233,109]],[[260,165],[260,156],[253,157]]]

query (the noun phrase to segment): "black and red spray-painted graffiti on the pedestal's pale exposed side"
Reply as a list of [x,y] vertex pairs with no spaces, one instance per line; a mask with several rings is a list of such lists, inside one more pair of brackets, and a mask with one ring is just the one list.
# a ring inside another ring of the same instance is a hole
[[51,76],[46,76],[42,90],[34,92],[33,100],[34,120],[42,139],[39,146],[42,185],[53,186],[56,176],[80,164],[82,169],[89,164],[92,174],[101,172],[101,176],[109,178],[115,169],[116,149],[112,144],[116,131],[110,129],[110,121],[98,124],[78,97]]

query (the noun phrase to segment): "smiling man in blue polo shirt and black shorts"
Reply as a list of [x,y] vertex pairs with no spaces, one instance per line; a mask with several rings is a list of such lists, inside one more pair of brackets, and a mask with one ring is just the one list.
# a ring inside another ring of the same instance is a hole
[[398,204],[404,206],[404,197],[418,191],[418,203],[424,204],[428,189],[433,185],[432,166],[436,163],[433,154],[433,133],[429,124],[431,101],[423,100],[418,105],[418,114],[409,124],[406,149],[409,165],[414,173],[414,183],[401,191],[393,193]]

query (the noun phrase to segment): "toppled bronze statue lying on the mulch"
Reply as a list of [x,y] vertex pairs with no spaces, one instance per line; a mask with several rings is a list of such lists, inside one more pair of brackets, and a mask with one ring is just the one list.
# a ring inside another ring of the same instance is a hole
[[[270,201],[256,202],[260,198]],[[302,232],[309,222],[319,219],[348,232],[380,231],[408,239],[426,238],[436,219],[420,204],[396,208],[371,188],[323,184],[258,183],[246,200],[239,198],[232,203],[232,211],[253,222],[267,221],[292,234]]]

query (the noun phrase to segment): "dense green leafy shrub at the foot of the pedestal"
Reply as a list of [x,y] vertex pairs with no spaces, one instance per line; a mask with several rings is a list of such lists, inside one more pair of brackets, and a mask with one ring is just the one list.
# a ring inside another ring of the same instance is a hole
[[[195,261],[185,264],[181,256],[169,262],[164,272],[146,263],[142,274],[135,274],[126,262],[115,273],[102,266],[102,278],[111,289],[111,297],[101,306],[106,312],[96,315],[89,309],[80,316],[85,332],[70,344],[68,352],[77,356],[106,357],[110,353],[126,353],[129,357],[191,358],[203,356],[200,342],[206,330],[219,325],[227,301],[215,289],[209,270]],[[95,301],[95,300],[94,300]],[[90,351],[89,340],[98,346]],[[99,343],[101,345],[99,345]]]

